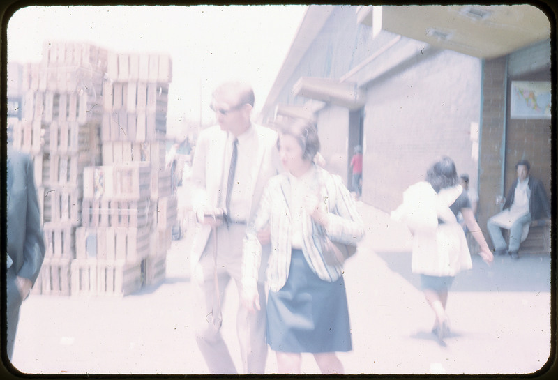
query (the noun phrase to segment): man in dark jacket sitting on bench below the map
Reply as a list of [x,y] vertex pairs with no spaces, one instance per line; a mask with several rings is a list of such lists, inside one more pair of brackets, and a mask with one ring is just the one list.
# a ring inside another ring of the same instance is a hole
[[[518,176],[508,191],[508,197],[504,199],[504,208],[488,219],[487,227],[496,254],[510,254],[513,259],[518,259],[520,244],[527,238],[531,222],[550,218],[550,202],[543,183],[529,176],[529,161],[520,160],[515,165],[515,170]],[[502,228],[510,231],[509,246]]]

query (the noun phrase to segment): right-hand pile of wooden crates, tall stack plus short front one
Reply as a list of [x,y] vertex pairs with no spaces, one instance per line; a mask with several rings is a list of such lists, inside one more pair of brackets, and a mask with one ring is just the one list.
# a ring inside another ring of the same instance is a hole
[[107,56],[103,165],[84,172],[73,294],[128,294],[165,277],[171,237],[158,204],[172,206],[165,167],[170,62],[158,54]]

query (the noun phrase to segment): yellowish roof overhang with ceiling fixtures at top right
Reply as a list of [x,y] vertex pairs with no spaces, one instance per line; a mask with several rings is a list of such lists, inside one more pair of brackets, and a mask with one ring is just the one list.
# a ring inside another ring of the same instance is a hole
[[361,6],[359,23],[439,49],[482,59],[504,56],[550,38],[550,21],[528,4]]

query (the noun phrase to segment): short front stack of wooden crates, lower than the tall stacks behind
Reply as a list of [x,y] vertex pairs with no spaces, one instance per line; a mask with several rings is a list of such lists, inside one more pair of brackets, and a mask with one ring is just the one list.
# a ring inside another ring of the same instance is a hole
[[142,287],[153,224],[150,173],[149,162],[85,168],[72,294],[124,295]]

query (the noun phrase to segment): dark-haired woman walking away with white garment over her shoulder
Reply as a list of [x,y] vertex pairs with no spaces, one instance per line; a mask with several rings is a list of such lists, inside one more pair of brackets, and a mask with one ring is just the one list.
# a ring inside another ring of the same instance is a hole
[[391,213],[391,218],[405,222],[413,234],[412,271],[421,275],[426,301],[435,314],[432,333],[441,344],[449,334],[448,290],[455,275],[472,268],[465,232],[457,220],[459,212],[481,248],[479,254],[490,264],[492,252],[458,183],[451,158],[435,162],[427,171],[426,181],[405,190],[403,203]]

